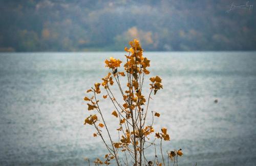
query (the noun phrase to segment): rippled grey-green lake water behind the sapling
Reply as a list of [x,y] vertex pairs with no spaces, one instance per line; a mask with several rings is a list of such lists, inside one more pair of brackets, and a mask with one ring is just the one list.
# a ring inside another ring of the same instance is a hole
[[[1,53],[0,165],[87,165],[84,157],[105,154],[82,125],[82,99],[106,74],[104,59],[123,54]],[[145,56],[163,79],[150,105],[161,114],[156,127],[168,127],[165,150],[183,149],[179,165],[255,165],[256,52]]]

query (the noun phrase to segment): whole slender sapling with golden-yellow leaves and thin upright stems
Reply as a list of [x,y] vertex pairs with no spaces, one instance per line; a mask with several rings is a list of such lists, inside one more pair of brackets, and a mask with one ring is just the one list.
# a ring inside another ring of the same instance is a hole
[[[105,67],[109,68],[110,72],[102,78],[101,83],[95,83],[94,86],[87,91],[87,96],[84,100],[87,101],[88,110],[92,115],[84,120],[84,125],[92,125],[95,128],[93,136],[99,136],[103,141],[108,154],[97,158],[95,165],[113,163],[114,165],[169,165],[170,160],[178,161],[178,156],[182,155],[181,149],[178,151],[167,152],[167,161],[164,160],[162,151],[162,141],[170,141],[170,136],[167,133],[167,128],[162,128],[156,132],[153,127],[154,118],[159,118],[160,114],[153,111],[148,111],[148,104],[152,99],[152,95],[163,89],[162,79],[159,76],[150,78],[150,93],[145,98],[142,94],[144,77],[150,74],[150,60],[143,57],[143,49],[138,40],[133,40],[130,43],[130,48],[125,47],[127,52],[125,55],[126,61],[123,65],[124,71],[121,71],[120,65],[122,61],[110,58],[105,60]],[[120,77],[124,77],[127,82],[126,88],[123,89],[120,83]],[[113,85],[118,86],[122,101],[117,101],[113,92]],[[99,95],[103,93],[102,95]],[[114,110],[102,110],[99,106],[100,100],[110,100],[114,106]],[[114,118],[119,119],[119,123],[115,128],[118,132],[118,138],[111,136],[108,128],[108,123],[104,116],[111,114]],[[148,124],[147,117],[151,117],[151,123]],[[147,123],[146,123],[147,121]],[[106,131],[107,136],[103,136],[102,131]],[[155,139],[150,139],[150,135]],[[161,154],[156,154],[156,142],[160,142]],[[144,152],[153,147],[155,155],[146,157]],[[160,156],[160,158],[159,158]],[[128,160],[129,159],[129,160]],[[90,161],[89,161],[90,164]]]

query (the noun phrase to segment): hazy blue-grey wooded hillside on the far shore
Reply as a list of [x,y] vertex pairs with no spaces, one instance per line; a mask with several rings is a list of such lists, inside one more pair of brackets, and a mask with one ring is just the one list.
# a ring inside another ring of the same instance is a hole
[[0,51],[255,50],[255,6],[232,2],[0,1]]

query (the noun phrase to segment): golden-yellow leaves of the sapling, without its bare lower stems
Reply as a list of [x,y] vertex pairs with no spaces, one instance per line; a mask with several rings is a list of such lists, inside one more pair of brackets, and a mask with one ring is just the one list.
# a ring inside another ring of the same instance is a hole
[[[124,64],[124,72],[120,72],[118,70],[118,67],[120,67],[120,64],[122,62],[118,59],[110,57],[109,60],[105,60],[105,67],[108,67],[109,69],[111,69],[112,73],[109,72],[104,78],[102,78],[103,82],[101,84],[95,83],[94,84],[95,88],[92,88],[87,91],[87,93],[94,92],[94,95],[96,93],[100,94],[101,93],[100,86],[102,86],[102,87],[104,87],[104,89],[106,89],[106,91],[109,94],[109,91],[110,91],[109,85],[112,86],[114,84],[114,79],[116,80],[116,83],[120,87],[119,76],[125,76],[125,74],[127,74],[128,89],[125,90],[124,93],[121,90],[122,97],[123,97],[123,100],[125,101],[125,103],[123,103],[122,106],[121,106],[121,103],[120,104],[118,103],[119,106],[121,107],[120,112],[118,109],[117,109],[118,113],[116,112],[116,110],[114,110],[112,112],[113,116],[115,116],[116,118],[119,118],[120,127],[117,128],[118,132],[119,133],[123,132],[123,135],[121,135],[119,137],[119,141],[117,143],[113,143],[113,146],[117,149],[122,148],[121,151],[130,150],[129,149],[130,144],[132,144],[132,146],[134,146],[134,144],[138,145],[139,144],[138,141],[140,138],[144,139],[146,137],[147,139],[149,139],[148,135],[155,132],[155,130],[152,126],[145,127],[144,125],[140,129],[137,128],[137,130],[134,129],[131,132],[127,129],[124,131],[124,129],[122,128],[123,124],[126,126],[125,122],[129,123],[128,119],[130,119],[132,117],[132,115],[134,115],[134,110],[136,110],[136,113],[142,113],[142,115],[144,114],[143,108],[141,105],[145,105],[146,99],[141,94],[141,87],[142,87],[141,79],[142,79],[142,83],[143,83],[144,74],[150,73],[150,71],[147,70],[147,67],[150,67],[150,60],[143,57],[143,49],[141,48],[139,41],[135,39],[133,41],[130,41],[129,44],[131,45],[131,47],[129,49],[127,47],[124,48],[124,50],[126,52],[129,52],[128,56],[125,55],[126,63]],[[156,94],[158,90],[163,89],[163,86],[161,84],[162,79],[159,76],[151,77],[150,80],[151,80],[151,84],[150,84],[151,90],[152,91],[154,90],[154,94]],[[108,97],[108,95],[103,95],[102,97],[105,99]],[[97,103],[99,102],[99,100],[96,101],[96,95],[95,95],[95,102],[93,101],[93,98],[94,97],[92,97],[92,98],[84,97],[85,101],[90,102],[90,103],[87,103],[88,110],[93,110],[96,108],[98,110],[98,112],[100,112],[100,109],[97,107],[98,106]],[[111,96],[109,96],[109,98],[112,101],[115,101],[114,96],[113,96],[113,98]],[[123,116],[123,113],[125,113],[125,116]],[[155,116],[160,117],[160,114],[155,113]],[[92,125],[92,124],[95,124],[96,121],[98,121],[97,116],[91,115],[90,117],[86,118],[84,124]],[[97,136],[97,135],[101,136],[101,130],[99,130],[98,127],[103,128],[104,125],[102,123],[99,123],[97,126],[95,125],[95,127],[96,127],[98,133],[94,133],[93,136]],[[162,141],[162,139],[164,141],[169,141],[170,137],[167,134],[167,128],[162,128],[161,131],[162,131],[161,133],[159,133],[159,132],[155,133],[155,136],[158,139],[161,139],[161,141]],[[131,135],[132,135],[132,138],[131,138]],[[136,139],[137,141],[135,141],[133,139]],[[140,151],[139,146],[136,147],[136,150]],[[170,153],[168,153],[168,156],[170,158],[172,158],[174,156],[181,156],[181,155],[182,155],[181,149],[178,151],[171,151]],[[95,164],[105,163],[106,165],[109,165],[110,164],[109,161],[111,159],[114,159],[115,157],[112,156],[111,154],[106,154],[105,158],[106,158],[106,160],[104,162],[102,162],[99,158],[97,158],[94,162],[95,162]],[[156,162],[156,164],[159,166],[162,166],[162,163]],[[151,165],[151,164],[148,163],[148,165]]]

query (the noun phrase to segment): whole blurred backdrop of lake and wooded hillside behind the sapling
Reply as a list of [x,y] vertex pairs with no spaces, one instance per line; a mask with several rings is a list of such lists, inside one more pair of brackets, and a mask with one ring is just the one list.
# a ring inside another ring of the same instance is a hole
[[[162,78],[150,111],[161,114],[156,131],[168,128],[163,151],[182,148],[179,165],[255,165],[254,5],[0,0],[0,165],[102,158],[104,144],[83,125],[93,114],[83,98],[109,72],[104,60],[125,61],[123,49],[134,38],[151,60],[145,96],[148,79]],[[115,137],[109,102],[100,105]],[[154,157],[154,149],[146,153]]]

